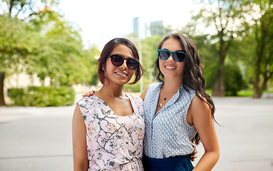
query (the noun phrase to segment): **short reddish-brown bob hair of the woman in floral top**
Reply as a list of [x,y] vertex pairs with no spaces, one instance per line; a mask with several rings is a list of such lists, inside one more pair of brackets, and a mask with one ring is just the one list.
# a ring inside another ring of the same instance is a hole
[[[137,48],[135,48],[135,45],[131,41],[129,41],[127,38],[113,38],[105,44],[103,51],[101,52],[101,57],[98,59],[98,78],[100,78],[101,83],[104,83],[105,79],[103,66],[105,66],[106,60],[110,56],[110,53],[113,51],[113,48],[115,48],[115,46],[118,46],[119,44],[123,44],[130,48],[133,53],[133,58],[139,61],[138,50]],[[143,66],[141,66],[140,64],[139,67],[135,69],[135,81],[128,84],[137,83],[140,80],[141,76],[143,76]]]

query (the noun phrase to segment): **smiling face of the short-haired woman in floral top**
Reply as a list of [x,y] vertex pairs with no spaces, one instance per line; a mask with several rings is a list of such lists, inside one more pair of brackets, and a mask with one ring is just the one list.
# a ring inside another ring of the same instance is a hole
[[[110,55],[113,54],[120,54],[124,58],[133,58],[133,53],[130,48],[123,44],[118,44],[117,46],[115,46]],[[115,83],[119,85],[124,85],[128,83],[128,81],[130,81],[133,73],[134,70],[130,70],[126,65],[126,60],[123,61],[123,64],[121,66],[113,66],[113,64],[111,63],[111,58],[107,58],[105,63],[105,76],[107,79],[105,79],[105,81],[109,81],[110,84]]]

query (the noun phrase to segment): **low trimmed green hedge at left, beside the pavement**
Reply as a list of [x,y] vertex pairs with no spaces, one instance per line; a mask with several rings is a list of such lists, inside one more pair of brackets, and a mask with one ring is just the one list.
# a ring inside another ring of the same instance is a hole
[[11,88],[9,90],[11,100],[14,105],[24,106],[63,106],[74,103],[75,92],[69,87],[34,87],[31,86],[26,90],[22,88]]

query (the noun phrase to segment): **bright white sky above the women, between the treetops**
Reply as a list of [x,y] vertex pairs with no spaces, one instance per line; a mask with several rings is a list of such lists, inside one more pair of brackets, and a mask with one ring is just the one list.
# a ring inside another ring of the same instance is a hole
[[135,17],[147,24],[163,20],[177,28],[187,24],[194,7],[192,0],[60,0],[58,9],[82,29],[85,46],[103,47],[112,38],[132,33]]

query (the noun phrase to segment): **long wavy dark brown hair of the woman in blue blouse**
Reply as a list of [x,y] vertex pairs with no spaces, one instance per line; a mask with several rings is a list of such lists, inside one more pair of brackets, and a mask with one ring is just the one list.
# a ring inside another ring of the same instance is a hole
[[[215,120],[215,105],[210,95],[205,92],[204,70],[202,64],[200,63],[200,56],[197,51],[197,46],[190,38],[187,38],[187,36],[184,36],[180,33],[172,33],[163,38],[163,41],[160,42],[158,49],[162,48],[163,43],[169,38],[175,38],[177,41],[179,41],[182,50],[186,51],[187,53],[183,72],[183,87],[185,88],[185,90],[187,90],[187,88],[192,88],[193,90],[195,90],[197,97],[210,106],[212,118],[213,120]],[[164,81],[164,75],[163,73],[161,73],[159,68],[158,58],[155,61],[155,66],[155,73],[156,75],[158,75],[158,81]],[[195,138],[192,139],[192,142],[194,142],[196,145],[200,142],[200,137],[198,133],[195,135]]]

